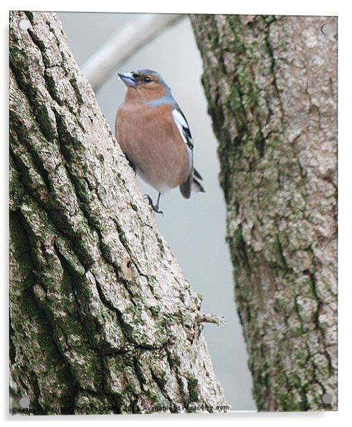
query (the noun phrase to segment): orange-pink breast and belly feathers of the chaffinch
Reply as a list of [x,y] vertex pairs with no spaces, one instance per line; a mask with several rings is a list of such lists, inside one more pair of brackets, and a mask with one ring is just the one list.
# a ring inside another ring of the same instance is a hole
[[115,132],[137,173],[160,193],[187,180],[192,162],[170,105],[124,103],[117,111]]

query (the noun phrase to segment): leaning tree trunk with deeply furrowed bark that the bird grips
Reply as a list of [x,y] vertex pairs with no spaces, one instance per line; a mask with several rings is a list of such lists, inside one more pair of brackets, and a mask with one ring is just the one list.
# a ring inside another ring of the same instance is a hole
[[[20,30],[20,19],[31,28]],[[224,410],[200,308],[60,21],[11,12],[10,364],[19,393],[43,414]],[[193,403],[213,408],[182,408]]]

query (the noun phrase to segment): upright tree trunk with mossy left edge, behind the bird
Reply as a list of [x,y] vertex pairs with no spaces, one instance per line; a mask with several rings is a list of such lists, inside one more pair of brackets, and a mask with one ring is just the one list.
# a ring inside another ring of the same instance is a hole
[[337,40],[326,22],[337,26],[192,16],[259,410],[337,408]]

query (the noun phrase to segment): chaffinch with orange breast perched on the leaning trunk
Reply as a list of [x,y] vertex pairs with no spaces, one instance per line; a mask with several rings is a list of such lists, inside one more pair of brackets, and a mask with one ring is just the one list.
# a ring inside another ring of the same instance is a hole
[[160,195],[180,186],[183,197],[204,193],[201,175],[193,166],[193,141],[187,120],[156,71],[120,73],[126,97],[116,114],[115,134],[133,170],[158,191],[153,204],[159,210]]

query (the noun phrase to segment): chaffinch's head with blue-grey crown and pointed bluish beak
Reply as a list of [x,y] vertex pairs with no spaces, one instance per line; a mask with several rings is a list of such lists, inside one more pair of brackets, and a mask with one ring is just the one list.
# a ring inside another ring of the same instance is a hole
[[[118,73],[119,78],[126,85],[128,92],[135,92],[144,97],[157,99],[167,96],[170,89],[159,73],[149,69],[140,69],[128,73]],[[131,91],[132,89],[132,91]]]

